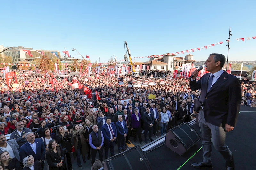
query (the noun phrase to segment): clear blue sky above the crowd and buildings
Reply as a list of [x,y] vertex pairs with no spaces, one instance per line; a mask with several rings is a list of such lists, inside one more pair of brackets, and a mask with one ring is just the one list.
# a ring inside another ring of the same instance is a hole
[[[196,61],[211,53],[227,55],[229,27],[233,36],[229,60],[256,60],[255,0],[249,1],[2,1],[0,44],[33,49],[76,48],[92,62],[124,59],[124,41],[132,57],[189,50],[223,41],[194,52]],[[61,52],[62,53],[62,52]],[[177,55],[184,57],[185,55]],[[146,61],[136,59],[136,61]],[[134,61],[134,60],[133,60]]]

